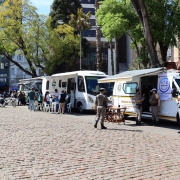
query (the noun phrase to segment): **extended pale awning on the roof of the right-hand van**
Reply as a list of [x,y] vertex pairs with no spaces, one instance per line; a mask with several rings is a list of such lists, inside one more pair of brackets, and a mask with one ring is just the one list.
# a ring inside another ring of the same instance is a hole
[[125,72],[120,73],[120,74],[116,74],[113,76],[108,76],[106,78],[99,79],[98,83],[131,81],[134,76],[143,76],[143,75],[147,75],[147,74],[157,74],[159,72],[163,72],[164,70],[165,70],[164,68],[152,68],[152,69],[125,71]]

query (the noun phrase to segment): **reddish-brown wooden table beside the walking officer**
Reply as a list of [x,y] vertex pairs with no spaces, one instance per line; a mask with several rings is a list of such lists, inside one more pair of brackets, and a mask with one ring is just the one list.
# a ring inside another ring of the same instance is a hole
[[116,122],[118,124],[124,122],[125,124],[124,113],[126,112],[126,109],[126,107],[108,107],[104,120],[112,123]]

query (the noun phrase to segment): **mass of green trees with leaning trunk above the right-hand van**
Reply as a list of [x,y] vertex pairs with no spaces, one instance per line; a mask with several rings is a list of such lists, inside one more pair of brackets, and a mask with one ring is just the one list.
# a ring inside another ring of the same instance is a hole
[[161,54],[159,59],[165,62],[168,48],[177,45],[180,32],[178,3],[179,0],[104,0],[97,12],[98,22],[107,39],[128,33],[137,55],[142,56],[141,47],[144,46],[151,66],[156,67],[159,66],[157,46]]

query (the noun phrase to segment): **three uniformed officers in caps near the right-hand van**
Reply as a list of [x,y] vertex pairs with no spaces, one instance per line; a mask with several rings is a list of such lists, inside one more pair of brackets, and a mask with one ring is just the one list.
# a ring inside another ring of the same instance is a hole
[[[97,111],[94,128],[97,128],[98,121],[101,118],[101,129],[107,129],[107,127],[104,126],[104,117],[106,113],[107,103],[109,103],[110,101],[105,95],[106,89],[100,88],[99,91],[100,94],[96,96],[96,100],[94,103],[94,110]],[[149,103],[149,108],[152,112],[152,125],[159,126],[160,98],[155,88],[151,90],[151,93],[152,94],[150,96],[148,103]],[[141,125],[142,106],[143,106],[143,101],[145,100],[145,94],[141,95],[140,89],[137,89],[136,94],[134,96],[134,100],[135,100],[135,108],[136,108],[136,125]]]

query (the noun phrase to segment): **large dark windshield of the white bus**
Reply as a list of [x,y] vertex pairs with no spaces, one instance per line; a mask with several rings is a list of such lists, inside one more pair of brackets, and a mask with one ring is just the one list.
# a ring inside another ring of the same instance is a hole
[[106,95],[112,96],[113,93],[113,87],[114,83],[98,83],[98,79],[101,79],[104,77],[97,77],[97,76],[86,76],[86,87],[87,87],[87,93],[91,95],[97,95],[99,94],[100,88],[106,89]]

